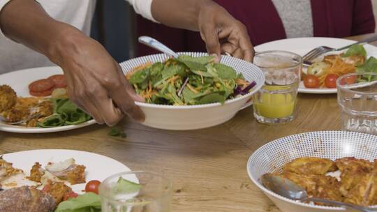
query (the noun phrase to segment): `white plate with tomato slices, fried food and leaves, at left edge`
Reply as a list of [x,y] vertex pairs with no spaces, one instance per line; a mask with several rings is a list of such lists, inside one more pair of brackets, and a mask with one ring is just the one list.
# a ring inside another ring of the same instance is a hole
[[59,132],[96,123],[69,100],[57,66],[0,75],[0,115],[5,119],[0,130],[6,132]]

